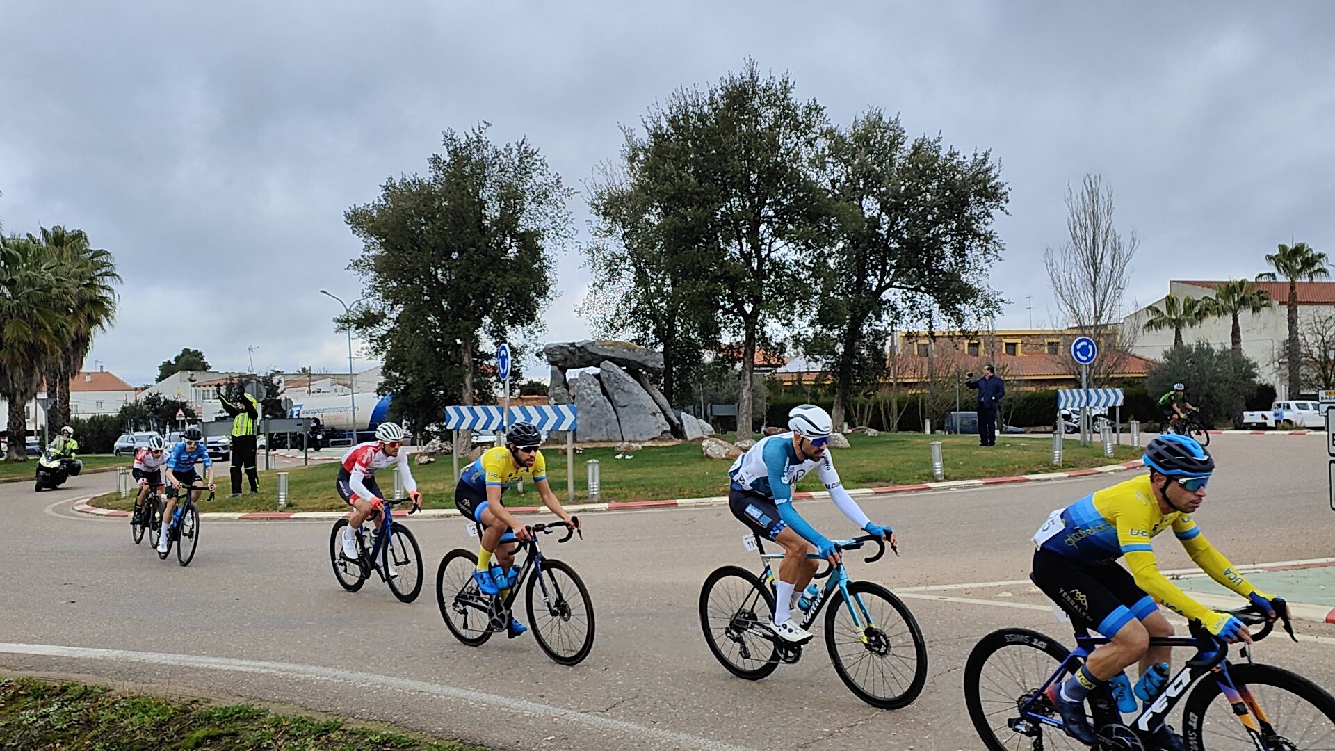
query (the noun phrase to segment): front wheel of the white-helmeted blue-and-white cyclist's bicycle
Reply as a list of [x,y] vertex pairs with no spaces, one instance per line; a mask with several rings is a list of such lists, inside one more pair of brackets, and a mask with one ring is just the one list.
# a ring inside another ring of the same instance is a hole
[[873,707],[908,707],[926,686],[926,641],[917,620],[880,584],[850,581],[848,593],[852,611],[842,593],[836,593],[825,611],[825,647],[834,672]]

